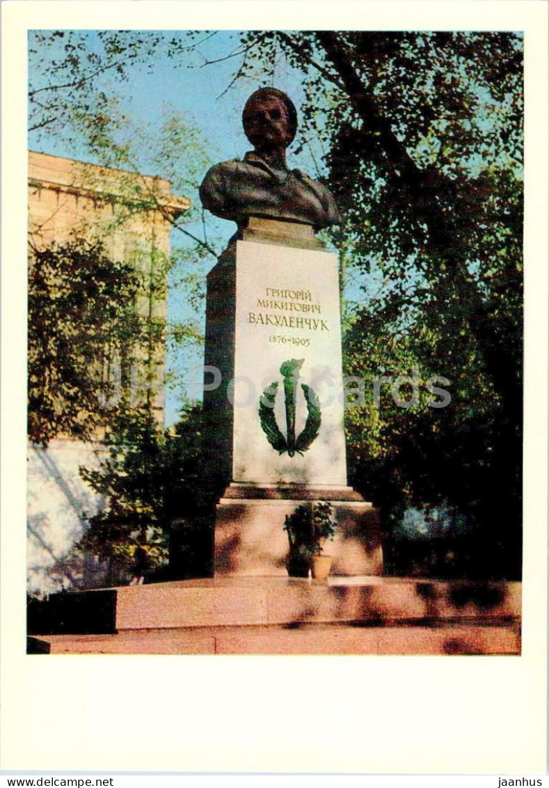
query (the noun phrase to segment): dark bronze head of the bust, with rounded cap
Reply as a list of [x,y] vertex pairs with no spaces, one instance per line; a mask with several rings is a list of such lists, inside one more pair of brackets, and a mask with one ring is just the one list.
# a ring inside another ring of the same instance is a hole
[[250,95],[242,113],[244,132],[256,151],[284,152],[297,130],[291,99],[276,87],[262,87]]

